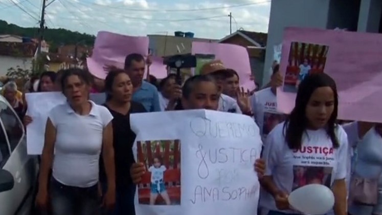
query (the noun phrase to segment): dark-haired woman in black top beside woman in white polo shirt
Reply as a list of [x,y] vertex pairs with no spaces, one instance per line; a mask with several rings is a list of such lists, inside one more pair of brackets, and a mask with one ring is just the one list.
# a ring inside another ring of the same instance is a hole
[[[134,193],[136,186],[132,183],[129,169],[134,163],[132,144],[136,138],[130,129],[130,114],[146,112],[145,107],[131,101],[132,84],[124,70],[113,69],[105,79],[105,106],[113,115],[113,145],[116,163],[117,198],[115,210],[110,214],[135,214]],[[101,166],[103,163],[101,162]],[[103,168],[101,167],[101,170]],[[104,173],[101,171],[101,183],[105,187]]]

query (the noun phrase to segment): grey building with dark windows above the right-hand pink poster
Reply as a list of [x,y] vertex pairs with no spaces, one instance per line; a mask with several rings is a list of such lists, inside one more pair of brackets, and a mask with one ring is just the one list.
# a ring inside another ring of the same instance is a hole
[[272,0],[262,84],[269,81],[273,49],[286,27],[381,33],[381,0]]

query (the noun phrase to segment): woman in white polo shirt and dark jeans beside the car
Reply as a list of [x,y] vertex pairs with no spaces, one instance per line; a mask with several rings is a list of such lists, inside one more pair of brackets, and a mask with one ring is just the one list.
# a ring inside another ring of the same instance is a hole
[[66,70],[61,88],[68,102],[48,114],[36,203],[46,208],[50,199],[53,215],[99,213],[101,148],[108,188],[104,204],[111,208],[115,203],[113,116],[88,100],[89,83],[82,70]]

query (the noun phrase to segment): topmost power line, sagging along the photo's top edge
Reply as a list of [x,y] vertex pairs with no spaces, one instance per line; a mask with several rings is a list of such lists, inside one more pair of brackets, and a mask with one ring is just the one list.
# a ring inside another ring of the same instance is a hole
[[[237,7],[245,7],[245,6],[254,6],[254,5],[260,5],[260,4],[265,4],[271,2],[270,0],[264,1],[264,2],[257,2],[257,3],[246,3],[246,4],[239,4],[239,5],[229,5],[229,6],[220,6],[220,7],[211,7],[211,8],[198,8],[198,9],[168,9],[168,10],[160,10],[160,9],[138,9],[138,8],[125,8],[125,7],[113,7],[109,5],[101,5],[93,2],[86,2],[86,1],[81,1],[81,2],[76,2],[78,4],[86,5],[91,4],[91,5],[96,5],[100,7],[107,7],[107,8],[113,8],[113,9],[121,9],[124,11],[141,11],[141,12],[186,12],[186,11],[206,11],[206,10],[219,10],[219,9],[226,9],[226,8],[237,8]],[[86,5],[88,6],[88,5]]]

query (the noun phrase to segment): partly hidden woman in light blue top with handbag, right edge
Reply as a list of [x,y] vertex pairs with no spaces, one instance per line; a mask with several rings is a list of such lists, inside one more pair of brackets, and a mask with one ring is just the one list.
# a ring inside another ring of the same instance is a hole
[[349,214],[382,214],[382,124],[351,122],[344,129],[357,152],[348,170]]

